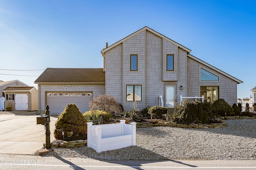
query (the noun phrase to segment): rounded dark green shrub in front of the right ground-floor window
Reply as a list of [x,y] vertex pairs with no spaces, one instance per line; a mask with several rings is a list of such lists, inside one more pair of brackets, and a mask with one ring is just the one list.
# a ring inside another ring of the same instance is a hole
[[233,111],[232,107],[224,99],[216,100],[212,104],[211,110],[213,113],[215,113],[216,115],[220,115],[220,116],[234,115],[234,111]]

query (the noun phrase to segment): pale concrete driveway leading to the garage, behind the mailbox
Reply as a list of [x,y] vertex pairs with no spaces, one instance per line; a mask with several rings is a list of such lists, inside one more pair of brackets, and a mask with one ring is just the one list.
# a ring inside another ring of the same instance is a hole
[[[0,115],[0,153],[34,154],[46,143],[44,125],[36,124],[40,115]],[[50,141],[54,141],[57,116],[50,116]]]

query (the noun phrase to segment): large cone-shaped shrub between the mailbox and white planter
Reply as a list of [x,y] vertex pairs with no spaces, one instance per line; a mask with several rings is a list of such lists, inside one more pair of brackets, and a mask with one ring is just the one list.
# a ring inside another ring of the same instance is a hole
[[65,134],[64,137],[67,136],[67,131],[73,131],[77,135],[84,135],[87,132],[86,122],[78,107],[75,104],[68,104],[55,122],[54,137],[63,139],[62,131]]

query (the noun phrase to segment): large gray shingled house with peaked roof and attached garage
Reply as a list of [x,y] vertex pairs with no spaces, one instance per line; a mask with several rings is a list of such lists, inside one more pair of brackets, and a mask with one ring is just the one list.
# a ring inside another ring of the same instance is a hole
[[[80,111],[99,94],[115,96],[125,110],[160,104],[174,107],[174,96],[202,96],[205,102],[225,99],[237,102],[241,80],[190,55],[191,50],[164,35],[144,27],[124,39],[106,45],[101,53],[103,68],[47,68],[35,81],[40,110],[46,104],[60,113],[68,103]],[[66,97],[66,98],[65,98]],[[84,98],[83,98],[84,97]]]

